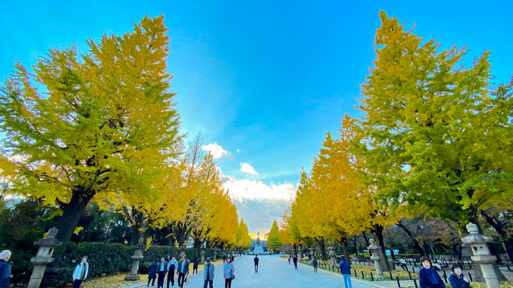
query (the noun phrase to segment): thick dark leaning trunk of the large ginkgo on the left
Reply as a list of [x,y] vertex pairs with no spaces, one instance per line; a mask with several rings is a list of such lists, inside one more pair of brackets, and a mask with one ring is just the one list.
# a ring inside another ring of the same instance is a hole
[[71,199],[66,207],[64,207],[63,215],[55,226],[55,228],[58,229],[55,238],[62,241],[63,244],[58,249],[55,249],[55,252],[53,253],[55,260],[53,261],[52,266],[56,267],[60,264],[61,258],[66,251],[66,246],[69,243],[69,239],[71,238],[71,235],[73,235],[80,217],[84,214],[84,211],[86,211],[87,204],[91,201],[94,194],[94,192],[80,193],[79,191],[73,190]]

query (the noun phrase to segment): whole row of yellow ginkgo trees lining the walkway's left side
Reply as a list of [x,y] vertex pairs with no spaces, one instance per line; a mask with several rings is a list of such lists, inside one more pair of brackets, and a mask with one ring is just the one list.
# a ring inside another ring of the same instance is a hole
[[89,39],[87,53],[51,48],[33,72],[17,63],[1,89],[1,174],[12,193],[62,209],[64,245],[91,201],[124,213],[135,239],[169,225],[179,244],[250,244],[201,136],[183,145],[167,31],[162,15],[146,16]]

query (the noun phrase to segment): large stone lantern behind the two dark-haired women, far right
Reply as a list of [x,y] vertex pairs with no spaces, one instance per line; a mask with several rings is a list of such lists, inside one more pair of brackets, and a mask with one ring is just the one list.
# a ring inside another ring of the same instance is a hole
[[479,234],[478,226],[474,223],[469,223],[467,225],[467,231],[470,234],[465,238],[462,238],[461,241],[464,244],[467,244],[472,250],[473,256],[471,256],[470,259],[481,266],[483,277],[488,288],[499,287],[499,279],[497,274],[495,274],[494,266],[492,264],[497,260],[497,257],[490,254],[487,244],[492,242],[490,237]]

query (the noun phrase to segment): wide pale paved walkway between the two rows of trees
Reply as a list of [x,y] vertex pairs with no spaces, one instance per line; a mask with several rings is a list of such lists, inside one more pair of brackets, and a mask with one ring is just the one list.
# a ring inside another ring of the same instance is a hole
[[[233,288],[286,288],[286,287],[322,287],[322,288],[341,288],[344,287],[343,279],[340,274],[314,273],[309,266],[298,265],[298,271],[294,270],[294,265],[287,260],[280,259],[278,256],[263,255],[259,257],[259,271],[254,272],[253,256],[247,255],[241,258],[235,258],[235,279],[232,281]],[[219,263],[219,261],[218,261]],[[200,265],[201,266],[201,265]],[[144,279],[144,278],[143,278]],[[184,288],[203,287],[203,271],[198,275],[190,276],[190,283]],[[125,286],[123,288],[145,287],[141,284]],[[164,283],[164,287],[166,283]],[[223,262],[215,265],[214,288],[224,287]],[[155,286],[156,287],[156,284]],[[176,288],[175,282],[175,288]],[[353,288],[383,287],[376,284],[366,284],[358,279],[352,278]]]

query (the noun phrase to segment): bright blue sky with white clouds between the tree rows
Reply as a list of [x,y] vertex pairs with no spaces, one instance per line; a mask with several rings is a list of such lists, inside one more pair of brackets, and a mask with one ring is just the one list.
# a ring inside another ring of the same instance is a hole
[[[145,14],[165,15],[182,130],[200,130],[250,233],[269,231],[309,170],[326,132],[337,134],[374,59],[379,10],[443,47],[467,45],[471,63],[490,49],[492,74],[513,67],[509,1],[152,1],[0,0],[0,76],[13,59],[35,63],[49,46],[121,34]],[[215,144],[214,144],[215,143]]]

